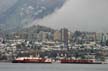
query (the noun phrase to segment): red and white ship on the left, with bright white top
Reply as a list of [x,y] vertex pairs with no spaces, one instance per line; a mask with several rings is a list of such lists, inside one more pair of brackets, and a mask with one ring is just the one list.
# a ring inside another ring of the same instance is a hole
[[52,59],[37,57],[20,57],[13,60],[12,63],[52,63]]

